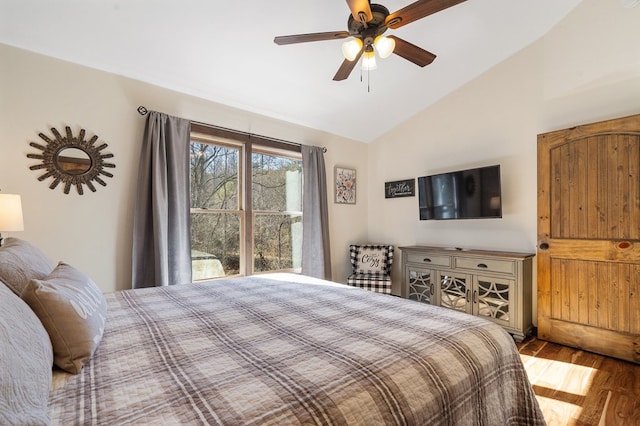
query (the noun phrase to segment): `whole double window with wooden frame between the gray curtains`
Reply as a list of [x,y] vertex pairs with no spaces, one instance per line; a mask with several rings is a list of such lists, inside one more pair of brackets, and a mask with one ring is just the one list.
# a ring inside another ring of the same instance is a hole
[[301,156],[274,145],[192,128],[194,281],[300,271]]

